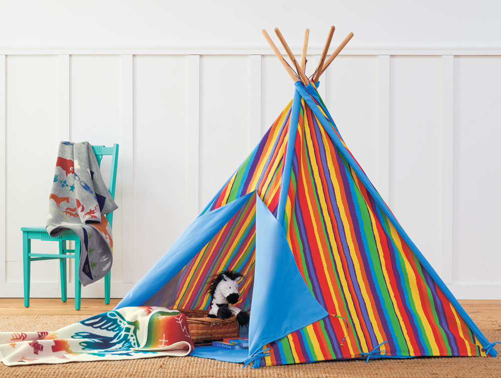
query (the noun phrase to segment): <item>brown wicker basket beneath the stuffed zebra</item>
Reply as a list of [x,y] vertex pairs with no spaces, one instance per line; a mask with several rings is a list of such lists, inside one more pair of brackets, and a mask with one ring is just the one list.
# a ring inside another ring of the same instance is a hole
[[236,316],[220,319],[207,317],[209,311],[178,308],[186,315],[186,322],[193,342],[221,340],[225,337],[238,337]]

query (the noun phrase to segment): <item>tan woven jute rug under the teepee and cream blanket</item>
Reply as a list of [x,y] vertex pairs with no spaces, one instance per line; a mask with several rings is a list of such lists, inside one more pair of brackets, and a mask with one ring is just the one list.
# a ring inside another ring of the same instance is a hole
[[[87,315],[59,316],[0,316],[0,331],[56,330]],[[501,341],[501,316],[472,315],[473,321],[489,341]],[[501,349],[498,347],[498,351]],[[198,357],[158,357],[122,361],[70,362],[8,367],[0,362],[0,377],[38,378],[58,377],[471,377],[501,376],[501,356],[492,357],[423,357],[407,359],[378,359],[325,361],[294,365],[268,366],[259,369],[240,364]]]

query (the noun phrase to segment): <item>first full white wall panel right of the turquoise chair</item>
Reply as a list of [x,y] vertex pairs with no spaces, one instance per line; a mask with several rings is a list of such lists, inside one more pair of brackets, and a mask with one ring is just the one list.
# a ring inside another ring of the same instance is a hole
[[[134,87],[134,267],[137,282],[189,223],[188,57],[138,55]],[[175,88],[175,90],[172,90]],[[197,200],[197,198],[194,198]]]

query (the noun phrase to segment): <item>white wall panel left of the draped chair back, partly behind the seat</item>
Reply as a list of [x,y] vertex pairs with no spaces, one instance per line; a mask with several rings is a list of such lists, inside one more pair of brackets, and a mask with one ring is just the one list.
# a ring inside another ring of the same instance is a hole
[[[5,275],[8,282],[22,282],[19,228],[44,224],[48,214],[47,191],[55,160],[47,151],[57,148],[58,137],[58,57],[8,55],[6,72]],[[50,250],[40,241],[34,247]],[[34,282],[57,282],[52,264],[40,262],[40,268],[33,269]]]

